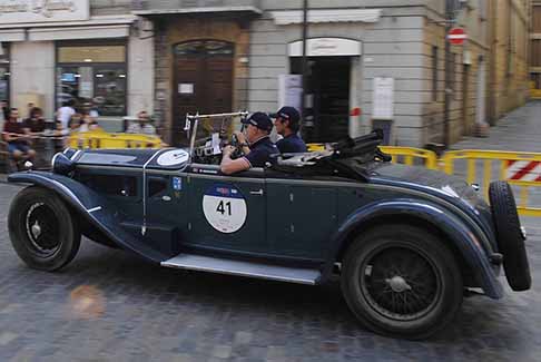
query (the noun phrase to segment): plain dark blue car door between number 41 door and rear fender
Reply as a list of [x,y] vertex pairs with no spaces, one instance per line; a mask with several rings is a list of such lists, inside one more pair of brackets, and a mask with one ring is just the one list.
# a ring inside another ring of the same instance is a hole
[[281,256],[321,260],[336,231],[337,192],[325,182],[267,178],[267,239]]

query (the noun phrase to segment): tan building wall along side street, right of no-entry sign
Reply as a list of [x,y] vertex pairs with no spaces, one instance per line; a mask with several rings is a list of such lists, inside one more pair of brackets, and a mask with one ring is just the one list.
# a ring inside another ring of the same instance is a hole
[[490,1],[489,120],[494,125],[529,97],[530,0]]

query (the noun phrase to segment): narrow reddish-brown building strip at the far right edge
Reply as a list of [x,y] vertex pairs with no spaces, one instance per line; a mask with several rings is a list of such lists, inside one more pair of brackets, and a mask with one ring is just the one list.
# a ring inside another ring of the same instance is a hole
[[530,88],[532,98],[541,99],[541,1],[531,2]]

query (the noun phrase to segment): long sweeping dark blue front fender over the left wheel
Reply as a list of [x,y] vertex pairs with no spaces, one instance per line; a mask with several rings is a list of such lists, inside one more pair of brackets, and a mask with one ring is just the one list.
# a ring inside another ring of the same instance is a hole
[[8,180],[50,189],[118,246],[155,263],[166,258],[166,255],[146,246],[140,239],[120,228],[116,208],[109,206],[105,197],[72,178],[52,173],[27,172],[11,174]]

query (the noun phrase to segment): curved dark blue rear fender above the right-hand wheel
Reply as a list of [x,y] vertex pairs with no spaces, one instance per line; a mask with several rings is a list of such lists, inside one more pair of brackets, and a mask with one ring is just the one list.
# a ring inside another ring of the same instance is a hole
[[460,251],[485,294],[492,299],[503,296],[503,287],[493,270],[490,255],[482,247],[483,241],[481,238],[485,236],[475,233],[456,215],[442,208],[440,205],[412,199],[377,202],[352,213],[332,238],[332,247],[325,263],[322,280],[331,275],[340,252],[346,246],[345,243],[350,241],[352,233],[361,224],[391,215],[413,216],[441,229]]

